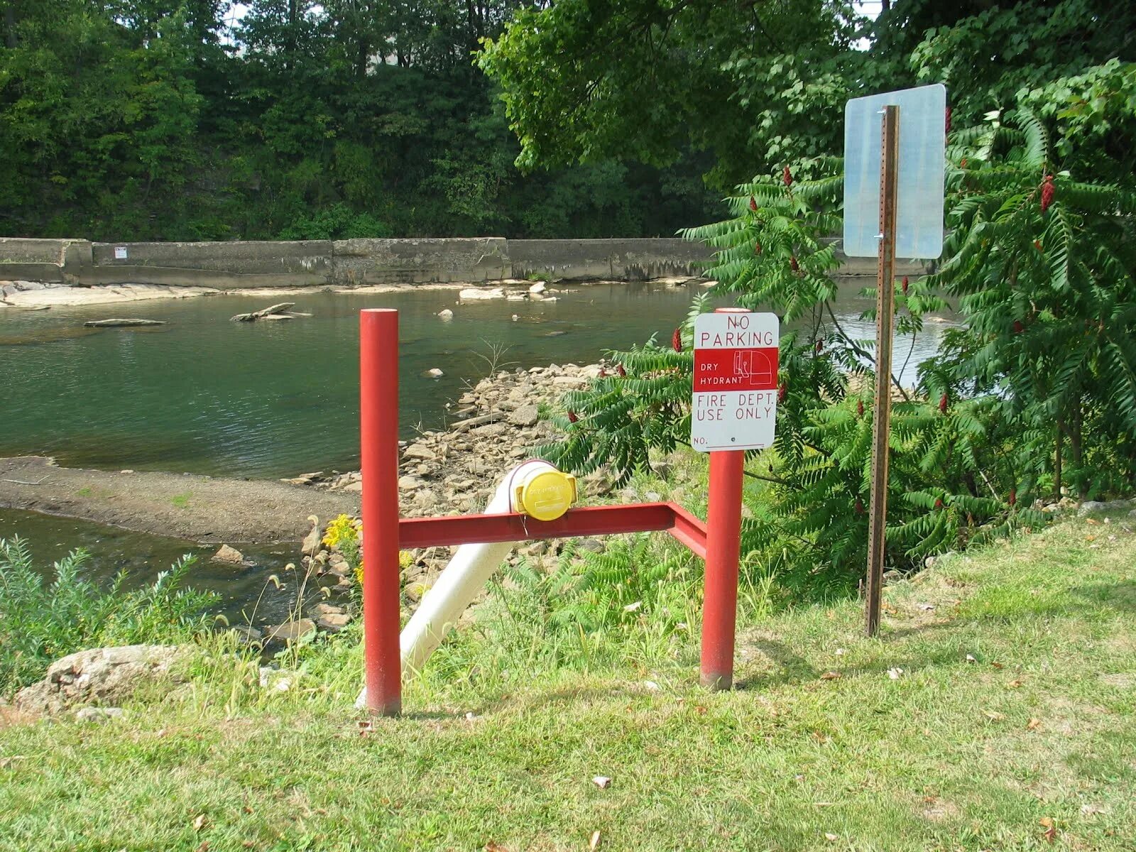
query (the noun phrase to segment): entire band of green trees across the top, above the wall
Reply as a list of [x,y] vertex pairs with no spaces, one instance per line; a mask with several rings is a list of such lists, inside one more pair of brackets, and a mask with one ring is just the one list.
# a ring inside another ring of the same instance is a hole
[[0,233],[669,235],[850,97],[942,81],[962,126],[1136,58],[1130,3],[885,6],[7,0]]

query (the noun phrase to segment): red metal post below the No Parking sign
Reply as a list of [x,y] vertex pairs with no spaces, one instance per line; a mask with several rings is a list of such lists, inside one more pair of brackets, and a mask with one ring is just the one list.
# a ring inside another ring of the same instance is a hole
[[742,546],[743,450],[710,453],[707,510],[705,592],[702,604],[702,685],[734,685],[734,629],[737,621],[737,561]]

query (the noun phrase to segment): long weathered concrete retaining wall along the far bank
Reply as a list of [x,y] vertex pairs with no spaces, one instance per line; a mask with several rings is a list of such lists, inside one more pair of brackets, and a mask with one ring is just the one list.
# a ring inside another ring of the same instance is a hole
[[[699,275],[702,243],[658,240],[506,240],[500,236],[212,243],[91,243],[0,237],[0,279],[91,286],[239,287],[477,283],[542,276],[637,281]],[[874,275],[874,258],[843,258]],[[919,264],[896,265],[899,275]]]

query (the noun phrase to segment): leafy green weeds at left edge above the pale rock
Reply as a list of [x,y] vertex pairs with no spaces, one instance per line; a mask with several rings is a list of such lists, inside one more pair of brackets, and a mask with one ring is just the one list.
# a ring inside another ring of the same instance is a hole
[[216,596],[184,588],[193,558],[131,592],[122,588],[123,575],[108,590],[84,579],[86,559],[77,550],[59,560],[48,583],[25,542],[0,538],[0,695],[26,686],[75,651],[177,642],[206,628],[203,612]]

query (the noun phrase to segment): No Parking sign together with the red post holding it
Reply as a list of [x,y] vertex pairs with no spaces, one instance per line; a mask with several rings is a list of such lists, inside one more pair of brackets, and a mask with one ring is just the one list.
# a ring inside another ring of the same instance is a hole
[[742,476],[745,451],[774,442],[779,340],[775,314],[721,308],[694,320],[691,446],[710,453],[702,685],[711,690],[734,683]]

